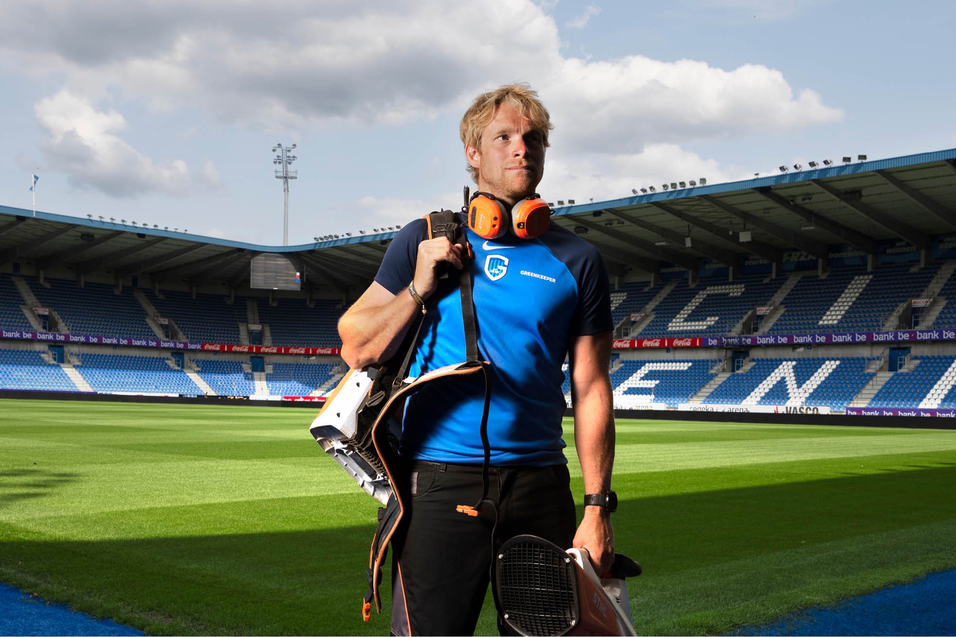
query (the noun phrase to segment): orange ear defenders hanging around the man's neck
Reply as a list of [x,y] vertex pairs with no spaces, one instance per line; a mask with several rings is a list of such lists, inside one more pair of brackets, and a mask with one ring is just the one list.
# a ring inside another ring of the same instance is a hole
[[551,223],[552,209],[540,195],[515,203],[511,210],[489,193],[478,191],[468,201],[468,227],[483,239],[498,239],[511,232],[519,239],[534,239],[544,234]]

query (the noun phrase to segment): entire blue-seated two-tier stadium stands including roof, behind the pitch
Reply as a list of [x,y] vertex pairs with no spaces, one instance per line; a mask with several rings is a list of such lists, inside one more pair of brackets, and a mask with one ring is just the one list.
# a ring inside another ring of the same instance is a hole
[[[613,282],[618,408],[956,414],[956,149],[843,159],[557,202]],[[320,401],[394,235],[267,246],[0,206],[0,390]]]

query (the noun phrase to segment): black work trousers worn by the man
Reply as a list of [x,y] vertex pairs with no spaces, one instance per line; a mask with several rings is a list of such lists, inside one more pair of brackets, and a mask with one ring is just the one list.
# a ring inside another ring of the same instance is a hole
[[393,635],[470,635],[488,591],[494,550],[522,534],[570,548],[575,502],[567,465],[490,467],[487,507],[476,517],[455,510],[482,495],[481,465],[413,461],[405,493],[412,494],[402,529],[392,541]]

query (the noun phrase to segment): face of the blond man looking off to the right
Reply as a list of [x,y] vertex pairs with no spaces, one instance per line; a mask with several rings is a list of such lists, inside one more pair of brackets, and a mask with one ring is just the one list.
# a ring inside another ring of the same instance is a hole
[[478,169],[478,189],[514,203],[534,192],[544,175],[544,136],[504,102],[481,134],[481,147],[465,147],[468,164]]

